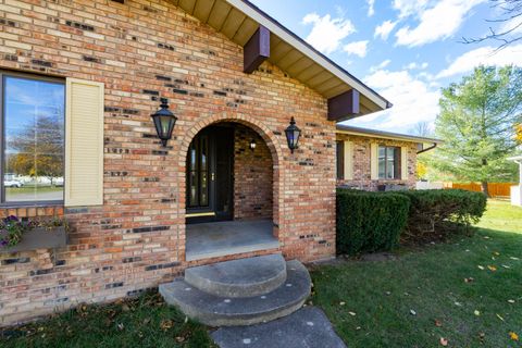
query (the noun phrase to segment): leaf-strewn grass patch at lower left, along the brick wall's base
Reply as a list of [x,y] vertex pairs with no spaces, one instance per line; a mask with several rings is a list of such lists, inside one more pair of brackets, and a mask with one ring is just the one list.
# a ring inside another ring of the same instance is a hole
[[80,306],[65,313],[0,332],[1,347],[215,347],[207,327],[157,293],[104,306]]

